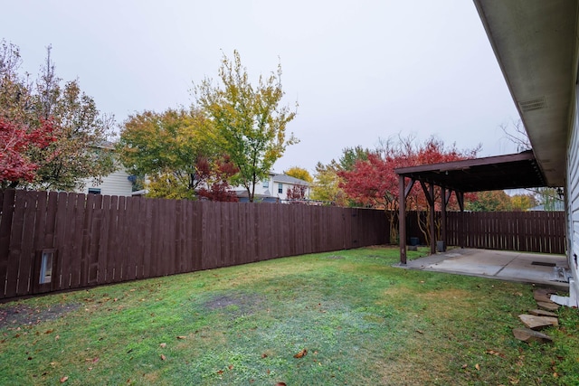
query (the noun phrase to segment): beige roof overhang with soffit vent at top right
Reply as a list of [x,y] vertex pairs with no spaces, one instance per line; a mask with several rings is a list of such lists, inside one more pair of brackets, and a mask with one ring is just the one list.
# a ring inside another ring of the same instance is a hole
[[549,186],[565,184],[579,2],[474,0]]

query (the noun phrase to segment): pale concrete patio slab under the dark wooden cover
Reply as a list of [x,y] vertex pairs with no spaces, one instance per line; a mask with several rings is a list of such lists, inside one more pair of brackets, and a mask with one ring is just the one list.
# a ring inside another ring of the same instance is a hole
[[422,259],[409,260],[404,267],[459,275],[498,278],[507,281],[549,285],[568,289],[556,280],[555,267],[568,269],[563,255],[489,249],[451,249]]

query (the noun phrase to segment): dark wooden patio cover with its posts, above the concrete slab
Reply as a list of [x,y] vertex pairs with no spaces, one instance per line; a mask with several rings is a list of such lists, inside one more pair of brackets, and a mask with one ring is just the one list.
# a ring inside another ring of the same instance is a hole
[[[441,187],[441,239],[446,240],[446,205],[456,194],[460,212],[464,212],[464,193],[546,186],[543,172],[531,150],[512,155],[497,155],[443,164],[419,165],[395,169],[400,187],[398,224],[400,262],[406,264],[406,197],[415,183],[422,185],[428,201],[430,231],[434,235],[434,186]],[[410,179],[410,184],[406,184]],[[436,252],[431,237],[431,253]]]

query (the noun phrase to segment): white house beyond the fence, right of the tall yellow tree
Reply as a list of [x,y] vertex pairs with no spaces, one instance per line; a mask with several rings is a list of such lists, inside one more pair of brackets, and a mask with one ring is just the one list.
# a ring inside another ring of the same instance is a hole
[[[288,190],[294,186],[305,186],[305,199],[309,198],[310,184],[307,181],[286,174],[270,173],[268,178],[255,185],[255,199],[261,202],[288,202]],[[248,200],[248,193],[242,186],[235,187],[240,202]]]

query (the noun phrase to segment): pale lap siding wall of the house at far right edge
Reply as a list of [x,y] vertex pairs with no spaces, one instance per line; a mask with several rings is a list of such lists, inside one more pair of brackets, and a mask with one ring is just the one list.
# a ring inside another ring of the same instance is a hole
[[[579,88],[577,91],[579,92]],[[574,126],[567,146],[567,175],[565,178],[567,185],[565,186],[565,196],[568,216],[569,266],[571,268],[571,276],[574,278],[576,293],[579,294],[579,267],[577,265],[577,255],[579,255],[579,117],[576,114],[579,111],[578,102],[575,97],[575,106],[577,108],[575,109]]]

